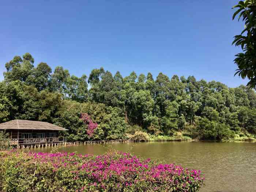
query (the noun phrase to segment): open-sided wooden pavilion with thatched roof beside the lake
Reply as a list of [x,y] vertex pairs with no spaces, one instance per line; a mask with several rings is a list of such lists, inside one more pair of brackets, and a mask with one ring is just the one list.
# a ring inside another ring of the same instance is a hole
[[11,145],[33,145],[64,142],[59,131],[68,129],[41,121],[12,120],[0,124],[0,131],[9,133]]

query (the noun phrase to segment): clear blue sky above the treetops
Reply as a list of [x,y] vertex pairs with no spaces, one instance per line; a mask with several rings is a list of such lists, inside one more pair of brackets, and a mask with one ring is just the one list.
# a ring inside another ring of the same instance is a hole
[[236,87],[231,46],[243,23],[232,21],[238,0],[2,1],[0,80],[4,64],[29,52],[39,62],[89,76],[103,67],[123,76],[163,72],[194,75]]

